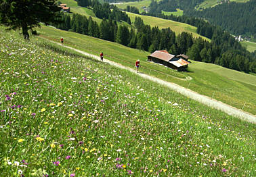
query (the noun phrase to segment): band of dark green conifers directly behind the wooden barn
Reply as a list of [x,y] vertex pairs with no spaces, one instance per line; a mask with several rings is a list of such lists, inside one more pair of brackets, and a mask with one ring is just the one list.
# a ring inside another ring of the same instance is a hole
[[217,64],[233,70],[244,72],[256,72],[256,61],[253,55],[244,49],[228,32],[223,32],[220,27],[213,32],[211,43],[202,38],[194,38],[188,32],[182,32],[175,36],[170,28],[158,29],[145,25],[142,18],[136,17],[135,28],[117,26],[115,20],[106,20],[100,26],[85,16],[74,14],[72,18],[68,14],[61,13],[64,23],[56,26],[63,30],[72,30],[81,34],[87,34],[107,41],[114,41],[132,47],[142,49],[150,53],[156,50],[166,49],[173,55],[187,54],[190,59]]

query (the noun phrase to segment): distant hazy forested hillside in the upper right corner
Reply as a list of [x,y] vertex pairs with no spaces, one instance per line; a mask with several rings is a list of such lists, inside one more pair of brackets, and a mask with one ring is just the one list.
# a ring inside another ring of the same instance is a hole
[[205,18],[232,34],[253,35],[256,39],[256,0],[247,3],[222,3],[212,8],[184,11],[186,16]]

